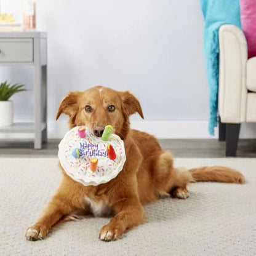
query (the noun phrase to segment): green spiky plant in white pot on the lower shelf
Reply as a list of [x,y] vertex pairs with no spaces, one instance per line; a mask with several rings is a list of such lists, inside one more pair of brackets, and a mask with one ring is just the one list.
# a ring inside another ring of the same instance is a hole
[[17,92],[23,92],[24,84],[8,84],[7,81],[0,84],[0,127],[12,126],[13,111],[12,102],[9,100]]

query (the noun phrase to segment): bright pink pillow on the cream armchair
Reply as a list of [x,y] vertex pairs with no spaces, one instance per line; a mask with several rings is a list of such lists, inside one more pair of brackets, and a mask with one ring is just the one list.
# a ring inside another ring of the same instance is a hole
[[256,0],[240,0],[242,31],[246,35],[248,58],[256,56]]

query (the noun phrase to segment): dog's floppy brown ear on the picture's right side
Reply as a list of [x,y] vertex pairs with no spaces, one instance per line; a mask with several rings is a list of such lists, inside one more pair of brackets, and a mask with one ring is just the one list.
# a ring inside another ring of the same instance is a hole
[[120,92],[120,95],[126,113],[130,116],[131,114],[138,112],[142,119],[144,119],[142,107],[140,106],[140,102],[138,102],[137,98],[135,98],[134,95],[128,90],[126,90],[125,92]]

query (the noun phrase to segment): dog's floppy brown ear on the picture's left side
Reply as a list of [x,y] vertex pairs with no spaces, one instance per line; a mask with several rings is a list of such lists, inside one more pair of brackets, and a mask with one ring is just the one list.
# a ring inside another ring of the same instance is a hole
[[78,95],[79,92],[70,92],[60,102],[58,112],[56,114],[56,120],[60,117],[60,114],[68,114],[70,118],[74,118],[78,113]]

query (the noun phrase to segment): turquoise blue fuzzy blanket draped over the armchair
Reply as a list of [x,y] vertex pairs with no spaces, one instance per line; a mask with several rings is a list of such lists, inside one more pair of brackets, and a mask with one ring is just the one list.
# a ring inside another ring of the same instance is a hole
[[204,15],[204,54],[210,97],[209,132],[214,135],[218,111],[218,29],[223,24],[241,28],[239,0],[200,0]]

